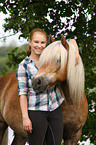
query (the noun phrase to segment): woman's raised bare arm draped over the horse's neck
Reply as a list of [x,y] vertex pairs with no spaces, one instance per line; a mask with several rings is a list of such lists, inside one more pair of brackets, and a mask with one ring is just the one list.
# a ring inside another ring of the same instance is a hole
[[75,65],[77,65],[79,61],[79,50],[78,50],[77,42],[74,39],[70,39],[69,42],[75,46],[75,50],[76,50],[75,51]]

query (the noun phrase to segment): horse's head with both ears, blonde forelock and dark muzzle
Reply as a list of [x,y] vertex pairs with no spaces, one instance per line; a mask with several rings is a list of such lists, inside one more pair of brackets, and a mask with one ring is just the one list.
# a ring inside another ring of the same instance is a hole
[[47,87],[66,79],[69,45],[63,35],[61,41],[53,41],[50,35],[49,42],[52,43],[40,56],[40,68],[32,80],[33,89],[36,92],[44,92]]

